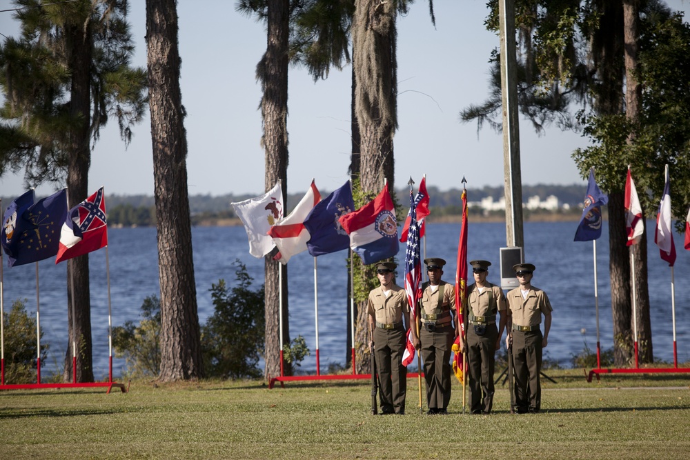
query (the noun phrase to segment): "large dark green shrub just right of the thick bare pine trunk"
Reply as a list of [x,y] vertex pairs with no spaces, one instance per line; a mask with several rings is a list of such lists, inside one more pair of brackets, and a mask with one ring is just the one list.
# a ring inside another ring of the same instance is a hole
[[224,279],[211,285],[214,314],[201,328],[201,353],[208,377],[261,377],[257,368],[264,350],[264,286],[250,290],[252,278],[237,259],[237,286],[228,292]]

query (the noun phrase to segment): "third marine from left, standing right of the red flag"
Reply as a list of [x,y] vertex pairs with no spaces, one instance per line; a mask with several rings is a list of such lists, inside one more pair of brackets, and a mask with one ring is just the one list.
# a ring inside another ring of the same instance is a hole
[[462,308],[466,339],[463,347],[467,353],[471,397],[470,412],[489,414],[493,406],[495,353],[500,348],[507,321],[506,297],[500,286],[486,281],[491,262],[474,260],[470,265],[475,282],[467,288],[467,301]]

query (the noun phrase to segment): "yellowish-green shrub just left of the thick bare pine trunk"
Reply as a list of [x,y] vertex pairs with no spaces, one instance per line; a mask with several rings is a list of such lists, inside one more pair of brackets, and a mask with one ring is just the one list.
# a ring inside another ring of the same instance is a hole
[[112,348],[117,357],[125,357],[129,377],[155,377],[161,368],[161,302],[157,296],[144,299],[141,317],[139,326],[126,321],[124,326],[112,328]]

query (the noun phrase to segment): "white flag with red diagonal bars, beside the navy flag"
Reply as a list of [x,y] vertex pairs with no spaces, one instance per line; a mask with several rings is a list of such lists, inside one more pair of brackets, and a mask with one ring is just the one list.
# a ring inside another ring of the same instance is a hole
[[274,259],[286,264],[293,255],[306,251],[309,232],[304,227],[304,219],[319,201],[321,201],[321,194],[316,188],[314,179],[312,179],[311,186],[309,186],[304,197],[299,200],[295,209],[285,219],[278,221],[275,226],[268,229],[268,236],[273,238],[273,243],[280,251]]

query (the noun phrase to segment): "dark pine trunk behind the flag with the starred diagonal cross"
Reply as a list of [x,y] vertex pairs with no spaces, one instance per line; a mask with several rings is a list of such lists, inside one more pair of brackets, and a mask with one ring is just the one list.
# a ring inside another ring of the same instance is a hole
[[[81,21],[65,26],[68,62],[72,72],[70,117],[79,120],[70,130],[69,166],[67,172],[68,204],[70,207],[86,199],[90,167],[90,74],[92,37],[89,27]],[[74,277],[74,291],[70,282]],[[72,356],[77,351],[77,381],[92,382],[91,303],[89,290],[88,255],[68,261],[68,346],[63,379],[72,381]],[[72,312],[74,301],[74,312]]]

